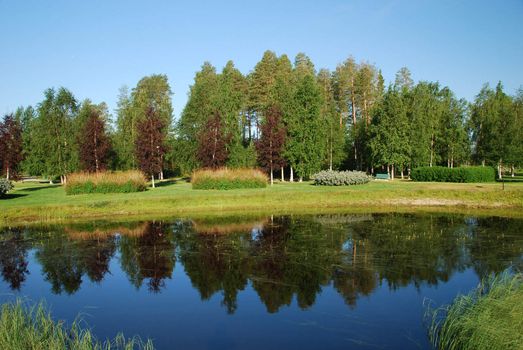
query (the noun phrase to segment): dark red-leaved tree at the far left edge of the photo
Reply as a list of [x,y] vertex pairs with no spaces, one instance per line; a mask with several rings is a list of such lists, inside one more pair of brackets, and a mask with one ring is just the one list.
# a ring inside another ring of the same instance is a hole
[[8,180],[18,177],[22,145],[22,125],[12,114],[6,115],[0,122],[0,165]]

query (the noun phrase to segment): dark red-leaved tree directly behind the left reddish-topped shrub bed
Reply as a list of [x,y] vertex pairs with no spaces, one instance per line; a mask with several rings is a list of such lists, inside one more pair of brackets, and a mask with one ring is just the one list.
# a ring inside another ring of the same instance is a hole
[[80,146],[80,163],[83,170],[99,172],[107,169],[111,142],[105,132],[105,123],[100,112],[92,110],[85,122],[78,144]]

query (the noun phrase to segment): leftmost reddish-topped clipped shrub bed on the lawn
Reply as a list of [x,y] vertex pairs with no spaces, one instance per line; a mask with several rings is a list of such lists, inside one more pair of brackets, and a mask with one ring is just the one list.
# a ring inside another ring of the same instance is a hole
[[147,181],[136,170],[124,172],[75,173],[67,177],[65,192],[82,193],[129,193],[144,191]]

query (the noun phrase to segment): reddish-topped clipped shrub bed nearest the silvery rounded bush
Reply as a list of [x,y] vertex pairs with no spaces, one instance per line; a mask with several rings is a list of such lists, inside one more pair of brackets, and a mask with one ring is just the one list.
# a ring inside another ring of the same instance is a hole
[[258,169],[202,169],[193,173],[191,183],[195,190],[263,188],[267,186],[267,176]]

